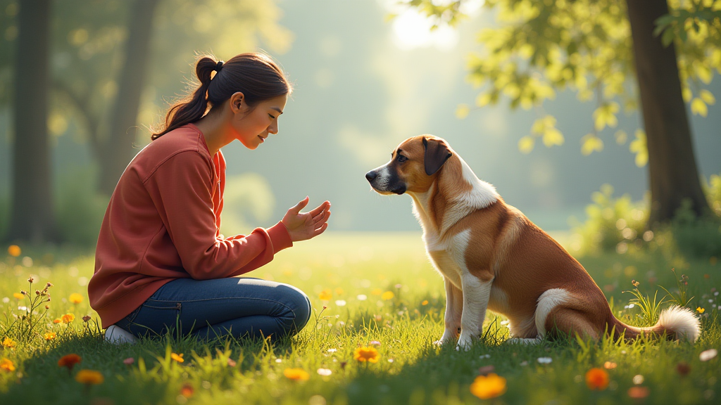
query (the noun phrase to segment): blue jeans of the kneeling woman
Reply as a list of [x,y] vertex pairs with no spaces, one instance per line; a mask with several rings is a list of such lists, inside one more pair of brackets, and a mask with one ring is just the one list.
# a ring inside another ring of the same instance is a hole
[[130,315],[115,323],[136,337],[178,331],[203,338],[268,337],[298,333],[311,303],[292,285],[256,278],[168,282]]

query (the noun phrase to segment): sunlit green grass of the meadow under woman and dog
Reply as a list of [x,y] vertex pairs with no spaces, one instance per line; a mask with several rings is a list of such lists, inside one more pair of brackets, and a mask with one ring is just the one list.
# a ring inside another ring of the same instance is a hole
[[[721,289],[721,264],[715,259],[687,262],[660,252],[580,258],[613,303],[614,313],[637,325],[647,321],[637,306],[627,308],[634,296],[622,293],[632,289],[632,279],[641,282],[641,293],[653,296],[659,290],[662,297],[665,292],[657,284],[674,285],[672,267],[689,275],[689,296],[695,297],[689,307],[704,308],[696,344],[611,339],[505,344],[503,318],[489,313],[483,339],[469,352],[456,352],[432,344],[443,333],[443,282],[415,233],[328,233],[250,273],[298,286],[316,309],[297,337],[275,345],[198,342],[172,335],[134,346],[105,344],[97,314],[87,302],[94,264],[88,253],[27,248],[21,257],[0,262],[0,298],[7,298],[0,304],[0,339],[17,341],[14,349],[0,352],[0,359],[12,360],[17,368],[0,370],[1,404],[715,404],[721,394],[719,358],[699,360],[704,350],[721,350],[715,307],[721,300],[714,295]],[[32,258],[32,264],[22,257]],[[22,315],[18,306],[27,302],[12,294],[27,290],[30,275],[35,277],[31,293],[35,285],[53,282],[53,301],[35,334],[19,337],[19,328],[7,329],[15,320],[12,313]],[[71,293],[81,293],[84,300],[68,302]],[[321,293],[332,298],[321,301]],[[74,313],[76,319],[67,326],[52,323],[64,313]],[[87,314],[93,319],[84,324],[81,317]],[[56,338],[45,341],[47,331],[55,331]],[[380,342],[379,362],[353,360],[357,347],[374,340]],[[185,361],[172,360],[172,352],[182,353]],[[82,357],[71,375],[57,365],[68,353]],[[135,360],[132,365],[123,363],[128,357]],[[552,360],[541,363],[539,357]],[[607,370],[609,387],[591,391],[584,375],[605,362],[616,365]],[[678,373],[680,363],[690,366],[688,375]],[[469,386],[487,365],[506,378],[507,391],[482,401]],[[74,375],[82,368],[99,370],[105,382],[89,387],[77,383]],[[290,380],[283,374],[286,368],[302,368],[310,379]],[[319,375],[320,368],[332,373]],[[647,397],[630,398],[634,386],[648,388]]]

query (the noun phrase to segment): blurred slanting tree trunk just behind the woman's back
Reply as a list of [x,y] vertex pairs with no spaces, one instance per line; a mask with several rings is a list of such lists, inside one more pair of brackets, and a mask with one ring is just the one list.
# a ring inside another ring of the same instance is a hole
[[136,0],[128,22],[129,37],[125,44],[125,62],[120,73],[118,98],[110,124],[104,153],[100,159],[101,192],[107,195],[115,190],[120,174],[133,159],[138,150],[136,139],[136,118],[143,92],[143,78],[149,60],[149,45],[152,33],[153,15],[159,0]]

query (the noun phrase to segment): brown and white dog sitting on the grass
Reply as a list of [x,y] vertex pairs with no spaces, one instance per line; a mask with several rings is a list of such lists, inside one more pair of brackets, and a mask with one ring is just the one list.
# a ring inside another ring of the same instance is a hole
[[616,319],[583,266],[441,138],[408,138],[366,179],[380,194],[413,199],[425,249],[446,285],[441,343],[458,339],[467,350],[487,309],[508,317],[512,342],[539,342],[558,331],[592,339],[604,331],[627,339],[644,332],[691,342],[699,336],[699,320],[688,308],[666,309],[649,328]]

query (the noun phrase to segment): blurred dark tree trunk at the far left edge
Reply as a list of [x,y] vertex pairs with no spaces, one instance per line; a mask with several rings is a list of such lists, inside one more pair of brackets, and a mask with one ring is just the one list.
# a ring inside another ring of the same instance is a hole
[[8,238],[41,243],[56,239],[47,124],[50,0],[20,1],[18,27]]

